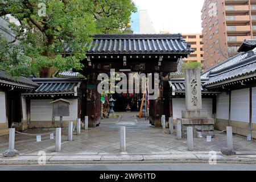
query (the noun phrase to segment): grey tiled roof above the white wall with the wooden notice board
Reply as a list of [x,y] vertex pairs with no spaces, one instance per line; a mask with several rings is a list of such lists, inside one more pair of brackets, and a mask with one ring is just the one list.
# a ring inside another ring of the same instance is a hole
[[74,94],[76,86],[81,81],[80,78],[33,78],[39,86],[30,94]]

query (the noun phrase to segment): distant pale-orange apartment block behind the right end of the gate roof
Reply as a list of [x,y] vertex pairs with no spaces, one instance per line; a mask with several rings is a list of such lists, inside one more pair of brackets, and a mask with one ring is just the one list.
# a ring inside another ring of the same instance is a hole
[[203,35],[202,34],[182,34],[183,39],[191,44],[191,48],[195,51],[191,53],[184,62],[194,61],[204,64],[204,51],[203,51]]

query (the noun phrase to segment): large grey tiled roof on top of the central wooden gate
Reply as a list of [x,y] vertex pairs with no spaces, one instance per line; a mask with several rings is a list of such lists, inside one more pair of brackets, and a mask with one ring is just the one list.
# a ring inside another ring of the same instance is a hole
[[181,34],[96,35],[88,55],[97,53],[191,53]]

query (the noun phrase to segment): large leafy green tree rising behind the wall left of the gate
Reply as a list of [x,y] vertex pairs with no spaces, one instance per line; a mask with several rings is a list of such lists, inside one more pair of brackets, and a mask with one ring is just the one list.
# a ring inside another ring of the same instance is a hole
[[20,23],[10,24],[13,42],[0,39],[0,69],[40,77],[81,69],[93,36],[129,32],[135,11],[131,0],[0,0],[0,16]]

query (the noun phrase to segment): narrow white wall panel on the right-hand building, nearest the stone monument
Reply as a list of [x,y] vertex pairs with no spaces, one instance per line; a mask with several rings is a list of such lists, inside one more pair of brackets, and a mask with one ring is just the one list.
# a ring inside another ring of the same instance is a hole
[[217,96],[217,119],[229,119],[229,94],[222,92]]

